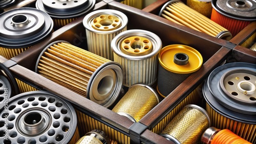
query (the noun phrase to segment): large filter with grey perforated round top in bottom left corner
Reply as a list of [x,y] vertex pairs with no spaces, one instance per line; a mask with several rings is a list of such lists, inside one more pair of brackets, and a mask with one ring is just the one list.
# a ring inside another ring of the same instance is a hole
[[0,143],[75,143],[79,139],[75,109],[50,92],[15,95],[2,107]]

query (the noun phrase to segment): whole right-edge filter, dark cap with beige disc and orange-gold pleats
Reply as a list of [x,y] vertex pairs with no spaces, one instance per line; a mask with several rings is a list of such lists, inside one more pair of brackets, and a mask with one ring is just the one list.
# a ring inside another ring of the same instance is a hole
[[256,142],[256,65],[237,62],[214,69],[203,86],[212,127]]

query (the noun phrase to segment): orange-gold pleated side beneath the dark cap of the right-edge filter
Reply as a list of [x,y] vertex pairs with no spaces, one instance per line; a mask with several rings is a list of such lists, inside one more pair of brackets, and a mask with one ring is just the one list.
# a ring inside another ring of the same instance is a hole
[[234,134],[242,137],[243,139],[255,143],[256,142],[256,125],[241,123],[234,121],[224,115],[221,115],[212,109],[206,103],[206,111],[210,116],[211,126],[218,129],[229,129]]

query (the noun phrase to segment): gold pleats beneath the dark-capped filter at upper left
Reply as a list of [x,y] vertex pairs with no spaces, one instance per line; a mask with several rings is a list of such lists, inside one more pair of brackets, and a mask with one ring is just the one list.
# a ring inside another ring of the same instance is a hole
[[11,59],[11,58],[17,56],[18,54],[26,51],[27,49],[29,49],[29,47],[18,48],[18,49],[7,49],[5,47],[0,46],[0,55],[2,55],[3,57],[5,57],[7,59]]

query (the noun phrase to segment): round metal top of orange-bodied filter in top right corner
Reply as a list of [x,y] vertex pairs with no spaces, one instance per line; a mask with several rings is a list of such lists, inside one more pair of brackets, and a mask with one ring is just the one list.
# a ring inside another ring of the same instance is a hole
[[[212,3],[212,7],[215,7]],[[216,8],[227,17],[240,20],[256,20],[256,1],[254,0],[217,0]]]

